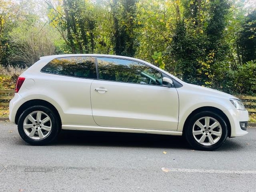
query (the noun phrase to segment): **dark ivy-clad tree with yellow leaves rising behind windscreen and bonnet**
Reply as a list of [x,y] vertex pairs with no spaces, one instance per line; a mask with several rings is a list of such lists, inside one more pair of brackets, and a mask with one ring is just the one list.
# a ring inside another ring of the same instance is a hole
[[183,1],[183,20],[177,21],[166,50],[169,64],[184,81],[207,87],[215,83],[220,61],[225,59],[223,43],[226,0]]

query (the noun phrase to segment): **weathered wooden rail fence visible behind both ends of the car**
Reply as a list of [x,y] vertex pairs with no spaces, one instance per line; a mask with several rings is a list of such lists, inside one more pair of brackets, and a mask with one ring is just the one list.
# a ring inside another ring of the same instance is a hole
[[[9,106],[9,101],[13,98],[15,90],[0,90],[0,106]],[[247,111],[256,113],[256,97],[253,96],[237,96],[244,102]]]

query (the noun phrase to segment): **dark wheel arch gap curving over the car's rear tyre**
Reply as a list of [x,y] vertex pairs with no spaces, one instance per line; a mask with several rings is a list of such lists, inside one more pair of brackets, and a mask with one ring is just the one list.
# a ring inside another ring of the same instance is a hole
[[58,110],[49,102],[41,100],[41,99],[34,99],[34,100],[29,100],[25,103],[23,103],[20,108],[17,110],[16,116],[15,116],[15,124],[17,124],[19,117],[23,111],[25,111],[27,108],[35,106],[35,105],[42,105],[44,107],[50,108],[57,116],[59,125],[61,126],[61,116],[58,112]]

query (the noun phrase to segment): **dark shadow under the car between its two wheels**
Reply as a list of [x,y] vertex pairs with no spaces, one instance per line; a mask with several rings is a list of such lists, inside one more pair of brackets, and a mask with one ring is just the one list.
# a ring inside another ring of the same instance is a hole
[[191,149],[181,136],[61,130],[52,145],[95,145]]

